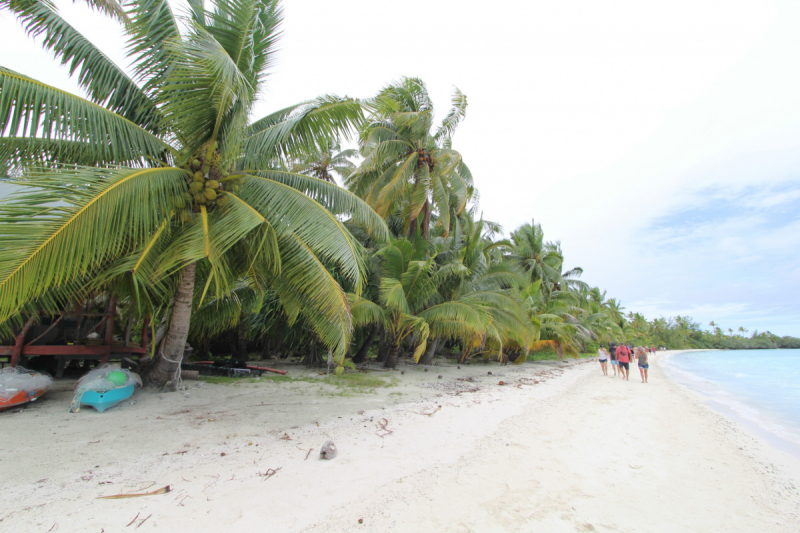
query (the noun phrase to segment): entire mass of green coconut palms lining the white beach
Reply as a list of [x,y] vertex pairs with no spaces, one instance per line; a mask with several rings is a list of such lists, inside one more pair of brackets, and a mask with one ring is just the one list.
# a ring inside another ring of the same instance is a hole
[[86,93],[0,67],[0,168],[18,189],[0,202],[6,337],[113,299],[128,332],[152,324],[156,384],[187,340],[203,358],[328,352],[340,372],[346,358],[519,363],[614,341],[800,346],[626,315],[539,224],[502,238],[454,148],[458,90],[440,121],[415,78],[252,120],[277,0],[190,1],[183,18],[167,0],[93,5],[125,28],[131,75],[49,2],[0,0]]

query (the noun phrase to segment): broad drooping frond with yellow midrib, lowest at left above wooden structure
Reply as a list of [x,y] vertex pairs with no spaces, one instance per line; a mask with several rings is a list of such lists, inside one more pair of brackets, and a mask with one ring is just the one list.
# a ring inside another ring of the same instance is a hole
[[80,169],[20,181],[23,191],[0,202],[0,321],[147,241],[182,194],[185,175]]

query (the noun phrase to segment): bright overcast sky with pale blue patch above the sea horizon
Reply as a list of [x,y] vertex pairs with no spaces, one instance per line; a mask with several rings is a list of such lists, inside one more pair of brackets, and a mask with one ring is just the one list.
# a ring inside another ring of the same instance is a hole
[[[121,65],[121,29],[63,16]],[[173,4],[176,11],[180,2]],[[255,117],[423,79],[486,219],[649,319],[800,336],[800,2],[286,0]],[[0,65],[80,92],[0,12]]]

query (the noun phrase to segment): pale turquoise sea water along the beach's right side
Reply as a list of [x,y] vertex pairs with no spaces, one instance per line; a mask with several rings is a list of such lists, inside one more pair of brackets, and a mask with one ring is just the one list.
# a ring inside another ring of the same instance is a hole
[[665,356],[675,381],[800,457],[800,350],[720,350]]

